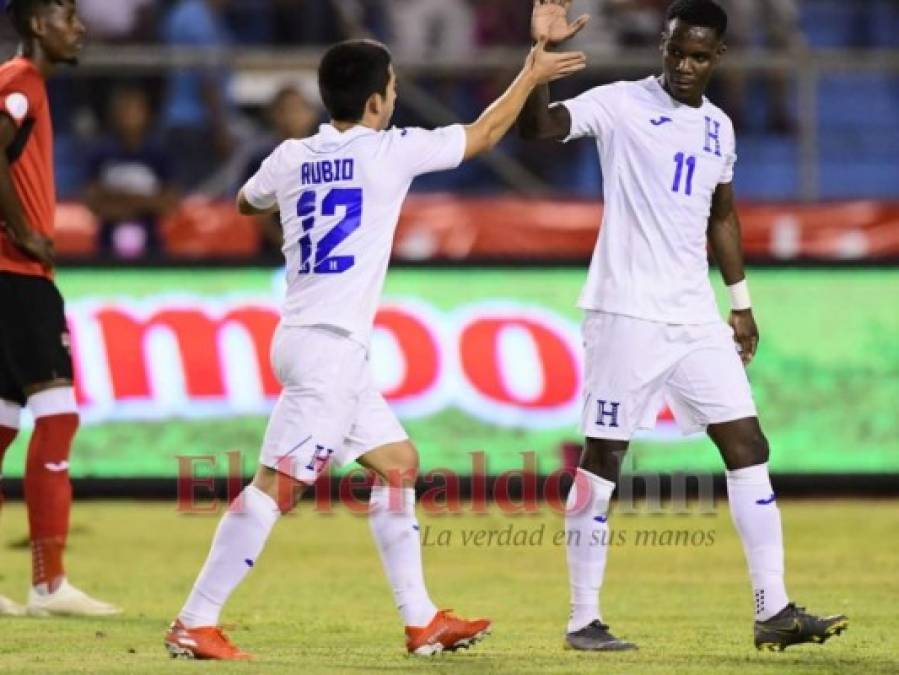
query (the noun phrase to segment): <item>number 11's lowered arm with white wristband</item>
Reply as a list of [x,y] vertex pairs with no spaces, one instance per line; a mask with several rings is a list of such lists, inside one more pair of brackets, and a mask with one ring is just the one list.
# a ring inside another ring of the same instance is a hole
[[721,269],[721,277],[730,292],[733,309],[728,323],[734,329],[734,340],[740,346],[743,363],[748,364],[758,348],[759,331],[752,315],[743,265],[740,219],[734,206],[734,189],[731,183],[719,185],[712,197],[708,240],[712,255]]

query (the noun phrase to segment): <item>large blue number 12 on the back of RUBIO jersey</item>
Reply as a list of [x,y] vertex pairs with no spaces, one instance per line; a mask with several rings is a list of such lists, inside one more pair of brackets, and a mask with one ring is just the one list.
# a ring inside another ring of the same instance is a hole
[[337,223],[315,246],[312,260],[312,228],[315,227],[315,191],[308,190],[297,202],[297,216],[303,227],[300,237],[300,274],[341,274],[356,264],[352,255],[332,256],[331,252],[355,232],[362,223],[362,190],[360,188],[334,188],[322,200],[321,215],[334,216],[337,209],[345,208],[343,219]]

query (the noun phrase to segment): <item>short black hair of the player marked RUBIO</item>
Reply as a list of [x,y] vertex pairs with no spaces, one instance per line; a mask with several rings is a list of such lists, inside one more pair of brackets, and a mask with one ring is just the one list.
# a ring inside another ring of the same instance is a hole
[[331,119],[358,122],[372,94],[387,95],[390,50],[374,40],[348,40],[331,47],[318,67],[318,89]]

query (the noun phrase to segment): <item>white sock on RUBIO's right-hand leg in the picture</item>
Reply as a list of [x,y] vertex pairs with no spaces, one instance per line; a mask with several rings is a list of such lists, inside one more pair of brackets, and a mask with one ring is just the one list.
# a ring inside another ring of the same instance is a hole
[[371,489],[368,522],[403,622],[407,626],[427,626],[437,607],[428,597],[421,566],[415,490],[375,485]]

